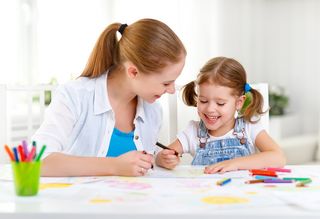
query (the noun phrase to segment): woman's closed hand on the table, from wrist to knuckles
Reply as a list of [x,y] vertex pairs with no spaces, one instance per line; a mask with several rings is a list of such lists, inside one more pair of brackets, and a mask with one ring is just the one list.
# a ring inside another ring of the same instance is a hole
[[115,158],[114,175],[143,176],[153,168],[153,155],[145,151],[130,151]]

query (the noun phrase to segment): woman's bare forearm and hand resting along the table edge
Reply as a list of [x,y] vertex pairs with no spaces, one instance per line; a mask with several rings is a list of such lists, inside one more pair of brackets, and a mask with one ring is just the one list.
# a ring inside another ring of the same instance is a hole
[[153,157],[131,151],[119,157],[79,157],[52,153],[42,160],[42,176],[141,176],[152,166]]

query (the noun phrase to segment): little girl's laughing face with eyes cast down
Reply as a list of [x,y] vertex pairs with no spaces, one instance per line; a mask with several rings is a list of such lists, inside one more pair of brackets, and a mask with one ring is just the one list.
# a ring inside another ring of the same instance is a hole
[[234,128],[235,112],[244,96],[232,95],[232,89],[212,83],[198,86],[197,109],[201,120],[213,136],[222,136]]

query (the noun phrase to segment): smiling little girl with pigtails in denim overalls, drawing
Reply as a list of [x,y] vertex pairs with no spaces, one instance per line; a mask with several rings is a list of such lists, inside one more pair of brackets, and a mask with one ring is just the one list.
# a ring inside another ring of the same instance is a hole
[[173,169],[179,163],[175,151],[191,153],[192,165],[209,165],[205,173],[285,164],[277,143],[257,123],[263,114],[263,97],[247,83],[239,62],[225,57],[209,60],[182,95],[188,106],[197,107],[200,121],[191,121],[178,134],[169,145],[173,150],[157,154],[157,165]]

